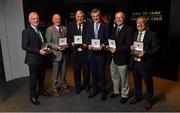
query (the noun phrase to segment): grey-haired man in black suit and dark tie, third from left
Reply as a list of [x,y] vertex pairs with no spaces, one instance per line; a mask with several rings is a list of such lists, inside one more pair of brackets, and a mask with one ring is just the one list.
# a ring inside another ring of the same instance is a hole
[[[72,47],[71,58],[77,94],[79,94],[82,89],[89,92],[89,63],[87,60],[88,48],[86,44],[87,23],[84,22],[84,16],[83,11],[76,11],[76,21],[68,25],[68,40]],[[82,44],[74,43],[74,38],[77,36],[82,37]],[[83,86],[81,85],[81,67],[83,72]]]

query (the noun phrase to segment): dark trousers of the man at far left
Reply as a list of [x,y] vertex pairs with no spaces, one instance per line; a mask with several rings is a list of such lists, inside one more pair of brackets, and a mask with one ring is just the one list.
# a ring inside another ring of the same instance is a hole
[[43,65],[29,65],[30,71],[30,96],[37,96],[37,88],[38,85],[38,93],[44,92],[44,75],[45,68]]

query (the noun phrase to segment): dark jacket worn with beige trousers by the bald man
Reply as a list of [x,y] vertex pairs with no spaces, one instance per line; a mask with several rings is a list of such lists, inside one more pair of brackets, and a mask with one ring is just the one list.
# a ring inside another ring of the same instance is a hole
[[116,42],[116,52],[113,53],[113,61],[116,65],[127,65],[130,61],[130,45],[133,41],[133,29],[124,25],[119,32],[117,27],[112,29],[111,38]]

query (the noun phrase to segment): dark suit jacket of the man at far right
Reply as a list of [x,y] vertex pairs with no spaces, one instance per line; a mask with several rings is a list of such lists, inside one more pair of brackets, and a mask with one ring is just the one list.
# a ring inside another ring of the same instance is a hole
[[[137,40],[138,33],[136,32],[134,35],[134,41]],[[152,64],[156,58],[157,52],[159,51],[159,40],[157,34],[155,32],[146,30],[143,40],[143,50],[145,54],[141,57],[141,61],[143,64]],[[133,61],[133,58],[132,60]]]

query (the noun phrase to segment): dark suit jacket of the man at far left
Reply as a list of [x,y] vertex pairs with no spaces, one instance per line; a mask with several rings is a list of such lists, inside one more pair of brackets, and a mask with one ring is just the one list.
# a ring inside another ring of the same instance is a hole
[[[41,29],[41,32],[44,41],[46,39],[44,37],[44,33]],[[42,48],[41,38],[38,36],[36,31],[28,26],[27,29],[22,32],[22,48],[26,51],[25,63],[28,65],[39,65],[43,61],[43,56],[39,54],[39,50]]]

